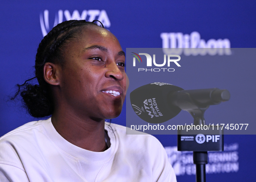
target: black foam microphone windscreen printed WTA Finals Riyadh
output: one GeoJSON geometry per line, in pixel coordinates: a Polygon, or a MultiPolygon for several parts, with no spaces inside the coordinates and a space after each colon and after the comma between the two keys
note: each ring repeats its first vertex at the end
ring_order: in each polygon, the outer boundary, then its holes
{"type": "Polygon", "coordinates": [[[162,123],[177,116],[181,109],[169,103],[169,95],[182,91],[168,83],[155,82],[136,88],[130,93],[134,112],[149,123],[162,123]]]}

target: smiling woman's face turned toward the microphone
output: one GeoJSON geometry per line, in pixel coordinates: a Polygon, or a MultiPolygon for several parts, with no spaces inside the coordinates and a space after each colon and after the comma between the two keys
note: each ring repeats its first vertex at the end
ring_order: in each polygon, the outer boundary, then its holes
{"type": "Polygon", "coordinates": [[[117,38],[104,28],[88,25],[63,52],[60,88],[68,110],[91,119],[119,116],[126,96],[126,72],[117,38]]]}

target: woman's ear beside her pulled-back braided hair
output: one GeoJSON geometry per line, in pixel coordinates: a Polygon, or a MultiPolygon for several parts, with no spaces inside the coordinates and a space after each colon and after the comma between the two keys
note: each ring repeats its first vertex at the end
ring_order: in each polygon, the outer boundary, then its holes
{"type": "Polygon", "coordinates": [[[61,67],[54,63],[45,63],[44,79],[50,85],[59,85],[61,67]]]}

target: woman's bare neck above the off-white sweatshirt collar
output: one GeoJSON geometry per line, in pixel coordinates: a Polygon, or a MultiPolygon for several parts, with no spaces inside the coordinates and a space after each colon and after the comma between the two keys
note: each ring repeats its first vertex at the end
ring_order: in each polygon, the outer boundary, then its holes
{"type": "Polygon", "coordinates": [[[107,148],[104,137],[104,119],[95,121],[90,118],[81,119],[72,113],[55,112],[52,124],[65,140],[88,151],[100,152],[107,148]]]}

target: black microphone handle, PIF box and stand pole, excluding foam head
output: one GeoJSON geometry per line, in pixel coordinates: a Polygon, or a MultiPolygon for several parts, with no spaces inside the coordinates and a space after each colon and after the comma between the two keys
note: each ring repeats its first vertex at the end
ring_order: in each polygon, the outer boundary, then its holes
{"type": "Polygon", "coordinates": [[[183,129],[178,130],[178,151],[193,151],[193,160],[196,165],[196,182],[206,182],[205,164],[208,163],[207,151],[223,151],[224,142],[222,130],[214,126],[207,126],[207,130],[202,129],[205,126],[204,112],[210,105],[220,104],[221,101],[229,100],[229,91],[217,88],[176,91],[172,93],[171,98],[173,105],[178,106],[181,110],[188,111],[194,118],[194,130],[192,126],[192,130],[189,130],[189,132],[183,129]],[[196,126],[201,126],[199,127],[201,130],[198,130],[196,126]],[[186,141],[185,138],[181,139],[182,135],[190,136],[193,139],[192,141],[186,141]],[[204,135],[207,137],[206,142],[204,135]],[[208,138],[213,138],[211,143],[208,138]]]}

